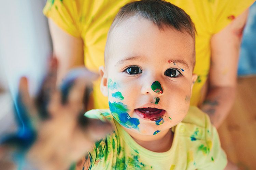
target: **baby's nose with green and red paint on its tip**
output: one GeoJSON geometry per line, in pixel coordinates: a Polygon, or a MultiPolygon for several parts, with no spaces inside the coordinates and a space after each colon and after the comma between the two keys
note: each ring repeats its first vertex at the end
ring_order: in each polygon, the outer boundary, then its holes
{"type": "Polygon", "coordinates": [[[157,96],[162,96],[163,94],[163,88],[161,86],[161,83],[159,81],[154,81],[152,83],[147,82],[141,89],[142,94],[152,94],[157,96]]]}

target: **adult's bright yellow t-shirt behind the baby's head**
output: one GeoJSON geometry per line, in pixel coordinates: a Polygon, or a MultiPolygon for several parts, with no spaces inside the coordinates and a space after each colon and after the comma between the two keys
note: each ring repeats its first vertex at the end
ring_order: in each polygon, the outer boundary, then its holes
{"type": "MultiPolygon", "coordinates": [[[[120,7],[131,0],[48,0],[43,13],[74,37],[84,41],[84,64],[98,72],[104,65],[104,47],[111,23],[120,7]]],[[[211,36],[246,10],[254,0],[167,0],[182,8],[195,24],[196,65],[198,79],[193,87],[191,105],[198,105],[201,89],[210,69],[211,36]]],[[[100,92],[100,80],[94,83],[94,108],[108,108],[100,92]]]]}

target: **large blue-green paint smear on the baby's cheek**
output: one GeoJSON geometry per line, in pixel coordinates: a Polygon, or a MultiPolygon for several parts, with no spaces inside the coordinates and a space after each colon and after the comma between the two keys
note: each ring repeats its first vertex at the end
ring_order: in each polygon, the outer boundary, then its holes
{"type": "Polygon", "coordinates": [[[140,124],[140,121],[137,118],[130,117],[130,115],[127,113],[129,111],[127,105],[121,102],[109,102],[109,109],[119,124],[125,128],[139,129],[138,125],[140,124]]]}

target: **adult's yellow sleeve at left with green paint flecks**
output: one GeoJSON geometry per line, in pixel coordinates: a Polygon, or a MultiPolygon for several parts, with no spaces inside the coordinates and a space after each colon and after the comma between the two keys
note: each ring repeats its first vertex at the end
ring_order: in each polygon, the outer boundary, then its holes
{"type": "Polygon", "coordinates": [[[81,0],[47,0],[43,13],[68,34],[80,37],[81,6],[81,0]]]}

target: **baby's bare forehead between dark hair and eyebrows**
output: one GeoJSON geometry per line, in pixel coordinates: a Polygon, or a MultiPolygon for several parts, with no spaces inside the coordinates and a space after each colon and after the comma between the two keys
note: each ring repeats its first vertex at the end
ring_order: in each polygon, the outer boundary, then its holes
{"type": "Polygon", "coordinates": [[[122,22],[111,31],[107,42],[105,59],[114,65],[136,59],[142,62],[154,58],[158,62],[192,60],[194,40],[187,33],[171,27],[159,29],[145,18],[130,17],[122,22]]]}

